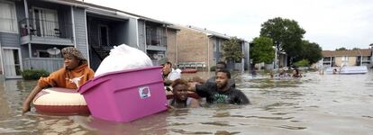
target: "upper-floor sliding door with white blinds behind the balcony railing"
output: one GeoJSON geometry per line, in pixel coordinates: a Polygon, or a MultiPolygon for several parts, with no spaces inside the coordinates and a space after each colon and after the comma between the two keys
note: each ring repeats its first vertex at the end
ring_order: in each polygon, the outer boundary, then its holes
{"type": "Polygon", "coordinates": [[[57,11],[33,7],[33,26],[38,36],[56,37],[59,33],[59,17],[57,11]]]}

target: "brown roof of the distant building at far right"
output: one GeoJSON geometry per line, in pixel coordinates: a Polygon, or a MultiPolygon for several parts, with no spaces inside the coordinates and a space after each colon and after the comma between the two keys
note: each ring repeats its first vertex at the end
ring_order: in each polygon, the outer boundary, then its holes
{"type": "Polygon", "coordinates": [[[323,57],[338,56],[370,56],[371,49],[354,49],[354,50],[323,50],[323,57]]]}

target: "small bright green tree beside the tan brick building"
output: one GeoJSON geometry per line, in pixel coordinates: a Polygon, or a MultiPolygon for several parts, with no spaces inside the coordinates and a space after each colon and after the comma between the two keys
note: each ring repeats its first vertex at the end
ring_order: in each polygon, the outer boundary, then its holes
{"type": "Polygon", "coordinates": [[[273,49],[273,40],[267,37],[254,38],[250,46],[250,58],[252,63],[270,63],[275,58],[275,49],[273,49]]]}

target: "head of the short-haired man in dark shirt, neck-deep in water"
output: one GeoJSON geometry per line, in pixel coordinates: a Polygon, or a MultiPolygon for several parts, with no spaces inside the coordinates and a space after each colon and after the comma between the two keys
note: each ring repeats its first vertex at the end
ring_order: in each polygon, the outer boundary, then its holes
{"type": "Polygon", "coordinates": [[[227,69],[217,71],[216,86],[219,90],[226,91],[229,89],[228,82],[231,79],[231,73],[227,69]]]}

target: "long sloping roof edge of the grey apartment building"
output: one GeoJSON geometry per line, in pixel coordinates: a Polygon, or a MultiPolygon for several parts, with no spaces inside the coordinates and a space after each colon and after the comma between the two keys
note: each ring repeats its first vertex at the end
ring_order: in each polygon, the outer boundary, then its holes
{"type": "Polygon", "coordinates": [[[129,15],[138,17],[140,20],[144,20],[144,21],[150,21],[150,22],[153,22],[153,23],[162,23],[162,24],[166,24],[166,25],[172,25],[172,23],[165,23],[165,22],[162,22],[162,21],[159,21],[159,20],[156,20],[156,19],[141,16],[139,14],[132,14],[132,13],[124,12],[122,10],[114,9],[114,8],[111,8],[111,7],[106,7],[106,6],[102,6],[102,5],[98,5],[98,4],[90,4],[90,3],[83,2],[83,1],[77,1],[77,0],[59,0],[59,1],[44,0],[44,1],[48,1],[48,2],[51,2],[51,3],[59,3],[59,4],[68,4],[68,5],[73,5],[73,6],[80,6],[80,7],[86,8],[86,9],[99,8],[99,9],[104,9],[104,10],[108,10],[108,11],[111,11],[111,12],[129,14],[129,15]]]}

